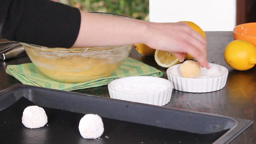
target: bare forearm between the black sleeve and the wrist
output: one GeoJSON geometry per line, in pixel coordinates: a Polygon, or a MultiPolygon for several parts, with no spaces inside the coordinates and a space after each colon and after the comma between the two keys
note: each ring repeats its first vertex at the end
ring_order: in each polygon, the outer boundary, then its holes
{"type": "Polygon", "coordinates": [[[147,28],[147,23],[143,20],[81,11],[81,25],[74,46],[118,46],[145,43],[147,28]]]}

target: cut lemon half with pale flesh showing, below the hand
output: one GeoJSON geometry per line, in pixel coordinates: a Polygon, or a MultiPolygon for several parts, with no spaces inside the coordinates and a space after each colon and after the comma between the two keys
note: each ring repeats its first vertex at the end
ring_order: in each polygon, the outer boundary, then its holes
{"type": "Polygon", "coordinates": [[[180,61],[173,53],[161,50],[155,51],[155,61],[159,66],[165,68],[169,68],[180,63],[180,61]]]}

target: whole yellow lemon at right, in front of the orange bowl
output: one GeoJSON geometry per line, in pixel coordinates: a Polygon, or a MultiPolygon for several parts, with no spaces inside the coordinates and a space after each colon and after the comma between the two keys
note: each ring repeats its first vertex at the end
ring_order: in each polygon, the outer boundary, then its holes
{"type": "Polygon", "coordinates": [[[226,46],[224,59],[233,69],[251,69],[256,64],[256,47],[245,40],[234,40],[226,46]]]}

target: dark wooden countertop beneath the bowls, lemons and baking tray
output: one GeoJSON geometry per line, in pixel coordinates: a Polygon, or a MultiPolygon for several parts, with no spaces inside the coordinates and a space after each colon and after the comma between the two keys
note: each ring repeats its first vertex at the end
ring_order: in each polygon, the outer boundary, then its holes
{"type": "MultiPolygon", "coordinates": [[[[228,67],[225,63],[223,53],[226,45],[233,40],[232,32],[206,32],[206,36],[208,61],[225,66],[229,70],[226,86],[219,91],[201,94],[174,90],[171,101],[165,107],[252,120],[254,122],[253,125],[234,139],[231,144],[256,143],[256,66],[247,71],[237,71],[228,67]]],[[[167,68],[158,66],[153,56],[142,56],[133,49],[130,57],[163,71],[163,78],[167,79],[167,68]]],[[[14,59],[0,61],[0,91],[20,83],[14,77],[6,74],[5,68],[7,65],[30,62],[25,52],[14,59]]],[[[109,97],[107,86],[76,90],[74,92],[109,97]]]]}

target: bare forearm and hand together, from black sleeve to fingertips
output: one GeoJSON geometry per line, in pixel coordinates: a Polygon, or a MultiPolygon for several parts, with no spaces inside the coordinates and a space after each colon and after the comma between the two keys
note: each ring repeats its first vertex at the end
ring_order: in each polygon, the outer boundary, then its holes
{"type": "Polygon", "coordinates": [[[206,59],[206,40],[184,22],[152,23],[81,11],[81,25],[74,47],[135,43],[172,52],[180,61],[188,53],[201,67],[210,68],[206,59]]]}

